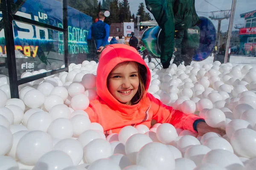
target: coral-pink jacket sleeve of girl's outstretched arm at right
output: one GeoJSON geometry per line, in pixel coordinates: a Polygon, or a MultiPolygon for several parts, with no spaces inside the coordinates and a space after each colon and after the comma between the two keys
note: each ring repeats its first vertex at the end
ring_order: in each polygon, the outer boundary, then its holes
{"type": "Polygon", "coordinates": [[[197,123],[198,119],[203,120],[203,118],[198,117],[194,114],[185,114],[181,111],[175,110],[170,106],[164,105],[159,99],[156,99],[152,94],[148,93],[148,97],[151,101],[151,108],[153,109],[152,119],[156,120],[158,123],[170,123],[175,128],[181,128],[184,130],[190,130],[197,133],[194,123],[197,123]]]}

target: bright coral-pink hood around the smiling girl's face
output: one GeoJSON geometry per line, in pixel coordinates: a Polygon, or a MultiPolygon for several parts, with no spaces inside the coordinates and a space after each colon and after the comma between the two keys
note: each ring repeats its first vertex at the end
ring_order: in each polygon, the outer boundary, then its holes
{"type": "Polygon", "coordinates": [[[148,91],[150,83],[150,71],[145,61],[142,59],[137,50],[125,44],[108,45],[103,51],[99,59],[97,68],[96,89],[98,96],[106,102],[111,108],[137,108],[140,102],[136,105],[125,105],[115,99],[108,91],[107,78],[112,69],[119,63],[125,61],[138,62],[146,67],[147,80],[145,83],[145,94],[148,91]]]}

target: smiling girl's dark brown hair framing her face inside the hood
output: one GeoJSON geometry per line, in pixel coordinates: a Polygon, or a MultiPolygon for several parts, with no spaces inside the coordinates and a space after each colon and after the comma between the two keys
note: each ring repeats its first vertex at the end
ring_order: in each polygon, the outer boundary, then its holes
{"type": "MultiPolygon", "coordinates": [[[[123,64],[128,64],[127,62],[122,62],[123,64]]],[[[138,77],[139,77],[139,87],[137,93],[134,95],[134,97],[131,99],[131,105],[136,105],[138,102],[140,102],[141,99],[144,98],[145,94],[145,84],[147,81],[147,69],[145,65],[142,65],[138,62],[135,62],[135,64],[138,66],[138,77]]],[[[108,77],[109,79],[109,77],[108,77]]],[[[108,79],[107,79],[107,86],[108,86],[108,79]]]]}

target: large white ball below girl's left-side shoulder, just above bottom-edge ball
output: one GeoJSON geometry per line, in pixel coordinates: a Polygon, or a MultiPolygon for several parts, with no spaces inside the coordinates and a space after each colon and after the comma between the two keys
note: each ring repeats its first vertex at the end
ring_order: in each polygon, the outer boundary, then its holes
{"type": "Polygon", "coordinates": [[[94,139],[84,147],[84,159],[91,164],[102,158],[113,155],[110,143],[104,139],[94,139]]]}

